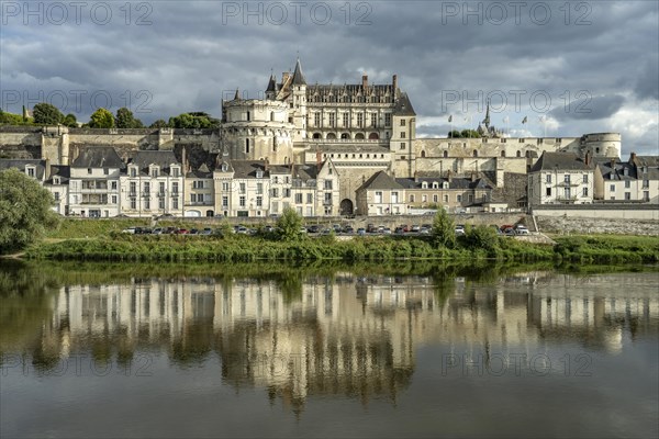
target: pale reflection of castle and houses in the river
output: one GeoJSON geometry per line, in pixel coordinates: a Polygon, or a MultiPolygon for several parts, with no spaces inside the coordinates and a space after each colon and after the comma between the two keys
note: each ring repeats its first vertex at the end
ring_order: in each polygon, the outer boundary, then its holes
{"type": "Polygon", "coordinates": [[[312,394],[395,398],[415,350],[533,351],[552,340],[615,353],[655,337],[657,273],[529,272],[479,284],[422,277],[281,280],[134,278],[68,285],[41,346],[59,358],[159,349],[180,364],[219,358],[222,379],[302,405],[312,394]],[[621,289],[634,278],[634,289],[621,289]]]}

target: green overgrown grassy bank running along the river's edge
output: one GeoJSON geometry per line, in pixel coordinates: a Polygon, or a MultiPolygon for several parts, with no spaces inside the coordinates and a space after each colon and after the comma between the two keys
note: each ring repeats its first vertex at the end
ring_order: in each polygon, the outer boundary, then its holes
{"type": "Polygon", "coordinates": [[[94,237],[55,238],[34,245],[25,258],[89,261],[394,261],[394,260],[499,260],[566,261],[579,263],[656,263],[659,237],[561,236],[556,246],[510,237],[488,243],[461,238],[455,248],[437,247],[429,236],[366,236],[338,240],[333,236],[281,241],[271,237],[228,235],[133,236],[110,233],[94,237]]]}

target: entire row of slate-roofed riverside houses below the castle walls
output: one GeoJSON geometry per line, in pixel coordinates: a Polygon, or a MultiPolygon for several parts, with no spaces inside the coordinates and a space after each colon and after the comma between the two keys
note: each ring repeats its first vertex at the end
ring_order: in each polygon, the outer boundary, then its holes
{"type": "MultiPolygon", "coordinates": [[[[315,165],[228,160],[221,154],[188,159],[186,150],[139,150],[122,159],[111,146],[85,146],[70,166],[0,159],[40,181],[63,215],[268,217],[291,207],[300,215],[345,214],[340,176],[331,158],[315,165]]],[[[527,177],[527,204],[659,204],[659,157],[581,159],[544,153],[527,177]]],[[[357,215],[396,215],[444,207],[449,212],[505,212],[484,173],[425,172],[395,178],[378,171],[356,189],[357,215]]]]}

